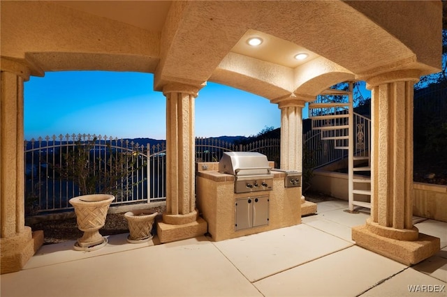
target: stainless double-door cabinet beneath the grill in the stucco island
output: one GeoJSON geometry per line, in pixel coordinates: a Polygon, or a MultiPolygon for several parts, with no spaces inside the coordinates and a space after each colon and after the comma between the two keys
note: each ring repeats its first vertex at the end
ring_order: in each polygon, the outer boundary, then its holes
{"type": "Polygon", "coordinates": [[[267,225],[269,196],[247,197],[235,201],[235,231],[267,225]]]}

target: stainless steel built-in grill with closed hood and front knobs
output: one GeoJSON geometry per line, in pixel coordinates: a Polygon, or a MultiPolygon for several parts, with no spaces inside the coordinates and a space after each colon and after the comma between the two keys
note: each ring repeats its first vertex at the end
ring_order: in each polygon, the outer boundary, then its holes
{"type": "Polygon", "coordinates": [[[235,193],[272,190],[270,169],[267,156],[254,152],[223,153],[219,162],[219,172],[235,176],[235,193]]]}

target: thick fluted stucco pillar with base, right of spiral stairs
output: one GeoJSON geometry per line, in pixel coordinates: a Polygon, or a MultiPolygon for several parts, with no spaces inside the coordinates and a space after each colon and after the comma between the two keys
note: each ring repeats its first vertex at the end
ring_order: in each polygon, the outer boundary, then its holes
{"type": "Polygon", "coordinates": [[[413,226],[413,85],[417,70],[367,79],[372,91],[371,217],[354,227],[356,243],[404,264],[439,250],[439,238],[413,226]]]}

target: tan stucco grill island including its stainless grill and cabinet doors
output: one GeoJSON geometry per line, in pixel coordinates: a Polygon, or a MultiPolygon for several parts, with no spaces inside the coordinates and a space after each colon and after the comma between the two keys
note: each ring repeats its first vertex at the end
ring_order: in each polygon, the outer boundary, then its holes
{"type": "Polygon", "coordinates": [[[273,167],[254,152],[223,153],[220,162],[197,164],[198,209],[214,241],[300,224],[301,176],[273,167]]]}

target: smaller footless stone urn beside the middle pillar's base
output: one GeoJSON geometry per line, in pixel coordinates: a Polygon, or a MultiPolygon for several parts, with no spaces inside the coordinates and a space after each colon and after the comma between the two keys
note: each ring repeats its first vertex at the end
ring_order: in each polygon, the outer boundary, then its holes
{"type": "Polygon", "coordinates": [[[130,234],[127,237],[129,243],[145,243],[152,239],[152,225],[156,215],[156,211],[151,210],[137,210],[128,211],[124,213],[124,218],[126,218],[129,224],[130,234]]]}

